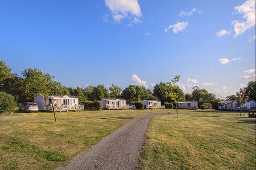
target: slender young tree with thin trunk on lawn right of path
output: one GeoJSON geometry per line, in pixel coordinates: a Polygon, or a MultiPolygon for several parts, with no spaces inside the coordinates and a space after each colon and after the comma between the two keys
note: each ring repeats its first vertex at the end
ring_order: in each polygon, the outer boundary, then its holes
{"type": "Polygon", "coordinates": [[[167,82],[169,90],[165,92],[165,95],[164,95],[164,97],[166,97],[167,99],[175,103],[176,114],[177,114],[177,101],[179,98],[179,94],[177,93],[179,91],[177,90],[177,88],[179,87],[176,85],[176,83],[179,82],[179,80],[180,80],[180,75],[179,76],[176,75],[174,79],[171,79],[170,82],[167,82]]]}

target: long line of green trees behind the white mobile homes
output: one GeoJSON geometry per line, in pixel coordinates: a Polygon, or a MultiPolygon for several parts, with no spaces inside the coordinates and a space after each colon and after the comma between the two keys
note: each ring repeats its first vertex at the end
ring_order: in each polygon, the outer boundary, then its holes
{"type": "MultiPolygon", "coordinates": [[[[255,100],[255,81],[249,82],[246,87],[249,88],[247,89],[249,98],[255,100]]],[[[36,94],[44,96],[73,95],[79,97],[80,104],[84,104],[85,101],[99,101],[101,98],[125,98],[127,103],[143,99],[160,100],[162,104],[164,102],[172,103],[173,101],[166,97],[166,92],[175,92],[179,96],[178,101],[197,101],[199,106],[203,103],[211,103],[214,109],[217,109],[218,101],[222,101],[205,89],[194,87],[192,94],[184,94],[177,85],[164,82],[156,84],[153,90],[138,85],[129,85],[122,90],[114,84],[108,89],[104,85],[68,88],[61,85],[61,82],[53,81],[53,76],[43,73],[37,68],[24,69],[22,77],[19,77],[18,74],[11,73],[11,68],[4,61],[0,61],[0,92],[11,94],[18,104],[34,101],[36,94]]]]}

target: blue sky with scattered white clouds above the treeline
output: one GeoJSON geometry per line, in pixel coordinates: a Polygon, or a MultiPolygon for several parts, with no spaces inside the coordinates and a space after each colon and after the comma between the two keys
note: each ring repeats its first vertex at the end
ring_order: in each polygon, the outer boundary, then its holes
{"type": "Polygon", "coordinates": [[[185,93],[223,98],[255,80],[255,0],[1,1],[0,20],[0,60],[65,86],[152,88],[180,74],[185,93]]]}

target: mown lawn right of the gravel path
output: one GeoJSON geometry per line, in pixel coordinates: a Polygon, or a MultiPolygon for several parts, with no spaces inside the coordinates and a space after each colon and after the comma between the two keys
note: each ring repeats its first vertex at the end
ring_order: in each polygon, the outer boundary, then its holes
{"type": "Polygon", "coordinates": [[[255,169],[255,156],[255,119],[246,113],[179,110],[151,119],[139,168],[255,169]]]}

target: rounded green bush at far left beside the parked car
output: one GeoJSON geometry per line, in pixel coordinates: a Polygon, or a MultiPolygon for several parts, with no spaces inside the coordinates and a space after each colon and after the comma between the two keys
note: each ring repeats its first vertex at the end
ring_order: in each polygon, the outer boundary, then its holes
{"type": "Polygon", "coordinates": [[[16,102],[14,101],[14,96],[5,92],[0,92],[0,113],[14,111],[15,107],[16,102]]]}

